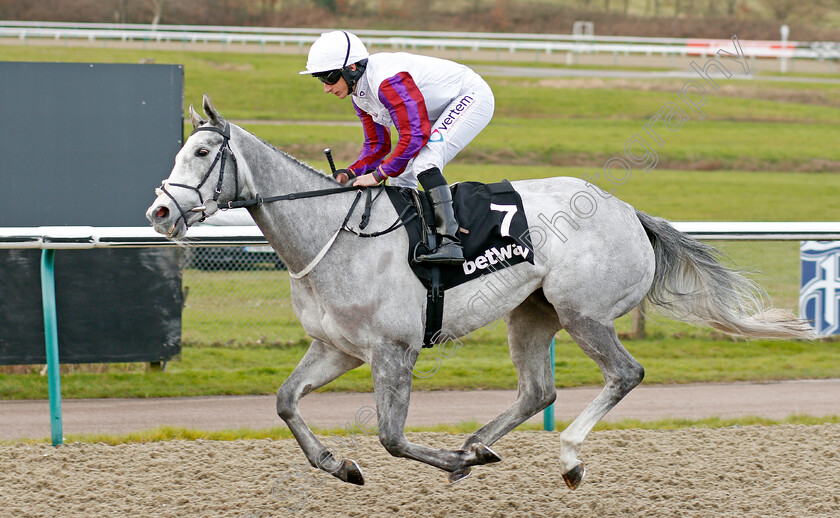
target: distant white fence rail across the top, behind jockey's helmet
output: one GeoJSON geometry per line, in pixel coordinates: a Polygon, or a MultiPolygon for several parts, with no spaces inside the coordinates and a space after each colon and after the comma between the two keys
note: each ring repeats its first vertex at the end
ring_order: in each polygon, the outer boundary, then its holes
{"type": "MultiPolygon", "coordinates": [[[[225,27],[193,25],[139,25],[103,23],[0,21],[0,38],[144,41],[180,43],[221,43],[259,45],[297,45],[303,48],[328,29],[280,27],[225,27]]],[[[551,54],[613,53],[665,56],[713,56],[729,48],[728,40],[698,38],[643,38],[631,36],[587,36],[571,34],[455,33],[419,31],[354,31],[372,46],[399,49],[431,48],[473,51],[531,51],[551,54]]],[[[741,40],[744,55],[750,58],[840,59],[838,42],[797,42],[741,40]]]]}

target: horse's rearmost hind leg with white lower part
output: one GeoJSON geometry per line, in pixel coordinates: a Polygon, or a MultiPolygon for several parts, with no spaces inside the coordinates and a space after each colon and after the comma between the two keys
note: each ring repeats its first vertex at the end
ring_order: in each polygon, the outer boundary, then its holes
{"type": "Polygon", "coordinates": [[[604,324],[576,313],[561,313],[563,327],[592,358],[604,376],[604,389],[560,434],[560,464],[563,480],[576,489],[583,480],[583,463],[578,460],[583,440],[592,428],[636,385],[645,370],[621,345],[612,323],[604,324]]]}

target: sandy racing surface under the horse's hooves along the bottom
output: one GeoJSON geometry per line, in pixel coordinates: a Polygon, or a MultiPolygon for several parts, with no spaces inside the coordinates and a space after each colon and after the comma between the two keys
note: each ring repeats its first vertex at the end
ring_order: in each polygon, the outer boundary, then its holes
{"type": "MultiPolygon", "coordinates": [[[[494,446],[501,463],[454,486],[390,457],[375,436],[323,440],[362,466],[365,486],[298,470],[292,440],[3,445],[0,515],[840,516],[840,424],[593,432],[574,492],[558,470],[557,432],[509,434],[494,446]]],[[[462,437],[409,440],[453,448],[462,437]]]]}

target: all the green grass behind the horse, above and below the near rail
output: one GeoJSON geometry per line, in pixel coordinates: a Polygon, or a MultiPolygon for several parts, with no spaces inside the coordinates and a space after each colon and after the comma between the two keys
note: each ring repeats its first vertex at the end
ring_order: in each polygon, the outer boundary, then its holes
{"type": "MultiPolygon", "coordinates": [[[[347,102],[324,95],[316,81],[297,74],[303,54],[0,46],[0,56],[118,63],[151,57],[159,64],[184,65],[187,106],[200,103],[207,92],[234,121],[357,121],[347,102]]],[[[654,147],[658,166],[649,173],[633,170],[626,183],[614,186],[618,197],[671,220],[840,220],[838,85],[795,76],[785,82],[725,82],[725,95],[709,92],[701,121],[677,98],[681,81],[604,80],[594,86],[514,77],[488,81],[496,95],[496,117],[447,167],[450,181],[601,174],[596,183],[611,188],[603,178],[604,162],[621,155],[636,133],[652,143],[643,125],[665,103],[676,102],[691,120],[673,132],[657,126],[665,141],[654,147]]],[[[247,128],[322,170],[327,169],[324,147],[333,149],[339,164],[353,160],[360,147],[361,129],[355,126],[255,123],[247,128]]],[[[734,264],[761,272],[759,281],[777,305],[795,307],[797,243],[719,245],[734,264]]],[[[69,372],[62,376],[64,396],[273,393],[308,343],[288,301],[287,274],[186,270],[184,284],[190,296],[180,361],[170,362],[164,373],[147,374],[139,364],[114,365],[97,374],[69,372]],[[263,295],[253,295],[257,288],[263,295]],[[247,320],[232,308],[245,312],[247,320]]],[[[630,330],[627,317],[618,329],[630,330]]],[[[647,383],[840,376],[837,342],[735,342],[660,318],[648,321],[648,332],[647,339],[625,341],[645,365],[647,383]]],[[[435,358],[435,350],[424,351],[418,368],[431,369],[435,358]]],[[[595,364],[564,334],[558,337],[555,368],[558,386],[601,383],[595,364]]],[[[415,380],[415,388],[426,390],[515,386],[503,325],[475,333],[434,376],[415,380]]],[[[362,367],[325,390],[371,388],[369,368],[362,367]]],[[[0,374],[0,398],[46,397],[46,377],[0,374]]],[[[179,433],[187,432],[159,435],[179,433]]]]}

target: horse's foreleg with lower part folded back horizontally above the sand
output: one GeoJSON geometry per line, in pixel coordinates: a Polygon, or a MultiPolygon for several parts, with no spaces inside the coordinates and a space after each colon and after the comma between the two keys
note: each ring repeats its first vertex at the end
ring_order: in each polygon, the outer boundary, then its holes
{"type": "Polygon", "coordinates": [[[405,419],[411,396],[413,361],[406,359],[405,350],[380,347],[371,361],[371,376],[378,415],[379,441],[394,457],[407,457],[449,472],[467,466],[498,462],[492,450],[474,444],[468,450],[443,450],[421,446],[405,437],[405,419]]]}

